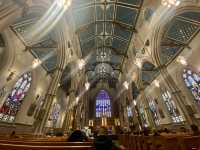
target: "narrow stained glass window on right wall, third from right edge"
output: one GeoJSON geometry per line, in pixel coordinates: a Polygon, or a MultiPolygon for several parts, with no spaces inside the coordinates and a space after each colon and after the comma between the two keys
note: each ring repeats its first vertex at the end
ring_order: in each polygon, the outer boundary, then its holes
{"type": "Polygon", "coordinates": [[[158,117],[158,111],[157,111],[157,108],[156,108],[156,104],[154,102],[154,100],[151,100],[149,102],[149,109],[150,109],[150,112],[153,116],[153,120],[155,122],[156,125],[159,125],[160,124],[160,119],[158,117]]]}

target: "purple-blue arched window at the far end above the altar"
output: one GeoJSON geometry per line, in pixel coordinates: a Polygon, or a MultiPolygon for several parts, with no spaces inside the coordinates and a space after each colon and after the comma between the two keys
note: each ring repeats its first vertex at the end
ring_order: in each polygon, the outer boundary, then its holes
{"type": "Polygon", "coordinates": [[[111,117],[110,96],[105,90],[101,90],[96,97],[96,117],[111,117]]]}

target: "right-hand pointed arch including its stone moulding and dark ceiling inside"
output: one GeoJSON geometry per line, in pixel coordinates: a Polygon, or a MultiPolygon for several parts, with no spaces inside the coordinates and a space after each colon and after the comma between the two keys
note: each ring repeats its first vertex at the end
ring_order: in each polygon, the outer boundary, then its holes
{"type": "Polygon", "coordinates": [[[159,66],[170,64],[200,31],[199,7],[188,6],[176,10],[155,29],[152,41],[154,56],[159,66]]]}

